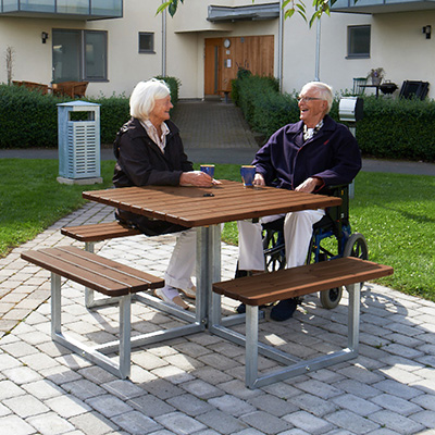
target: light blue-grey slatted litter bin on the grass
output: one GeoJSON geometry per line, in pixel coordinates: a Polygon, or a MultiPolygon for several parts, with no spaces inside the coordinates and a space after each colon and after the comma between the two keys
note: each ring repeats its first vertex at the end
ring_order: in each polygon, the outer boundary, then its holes
{"type": "Polygon", "coordinates": [[[58,104],[59,177],[63,184],[102,183],[100,104],[71,101],[58,104]]]}

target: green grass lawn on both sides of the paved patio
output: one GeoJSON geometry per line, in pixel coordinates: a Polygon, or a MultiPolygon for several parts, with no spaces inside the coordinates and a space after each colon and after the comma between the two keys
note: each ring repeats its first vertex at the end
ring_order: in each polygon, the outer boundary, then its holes
{"type": "MultiPolygon", "coordinates": [[[[57,182],[57,160],[0,160],[0,257],[85,201],[83,190],[111,185],[113,161],[101,162],[103,185],[67,186],[57,182]]],[[[196,166],[198,167],[198,166],[196,166]]],[[[216,178],[239,181],[239,166],[216,165],[216,178]]],[[[364,235],[369,259],[393,265],[395,274],[378,282],[435,301],[435,177],[360,173],[350,201],[353,232],[364,235]]],[[[223,239],[237,244],[235,223],[223,239]]]]}

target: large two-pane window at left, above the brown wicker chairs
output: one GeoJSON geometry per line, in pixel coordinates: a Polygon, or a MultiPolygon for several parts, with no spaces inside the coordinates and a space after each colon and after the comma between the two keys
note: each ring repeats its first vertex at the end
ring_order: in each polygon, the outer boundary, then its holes
{"type": "Polygon", "coordinates": [[[108,34],[53,29],[53,82],[108,79],[108,34]]]}

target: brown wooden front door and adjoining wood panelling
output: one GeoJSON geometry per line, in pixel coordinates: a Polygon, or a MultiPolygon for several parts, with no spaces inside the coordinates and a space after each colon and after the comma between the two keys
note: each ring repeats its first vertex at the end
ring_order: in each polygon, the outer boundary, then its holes
{"type": "Polygon", "coordinates": [[[273,35],[231,38],[207,38],[204,60],[204,95],[231,91],[231,80],[239,67],[252,74],[273,76],[273,35]],[[224,47],[224,40],[229,47],[224,47]]]}

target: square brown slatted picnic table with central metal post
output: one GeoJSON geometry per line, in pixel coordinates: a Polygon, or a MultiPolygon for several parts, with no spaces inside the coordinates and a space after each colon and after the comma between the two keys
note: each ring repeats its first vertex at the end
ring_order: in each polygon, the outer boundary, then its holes
{"type": "MultiPolygon", "coordinates": [[[[338,206],[341,199],[303,194],[274,187],[244,187],[241,183],[222,181],[211,188],[181,186],[124,187],[84,191],[85,199],[133,213],[197,228],[197,303],[198,325],[186,332],[204,330],[209,320],[220,322],[220,297],[212,283],[221,281],[221,224],[307,209],[338,206]]],[[[179,313],[184,318],[191,313],[179,313]]],[[[237,315],[223,322],[234,322],[237,315]]],[[[163,336],[162,336],[163,339],[163,336]]]]}

